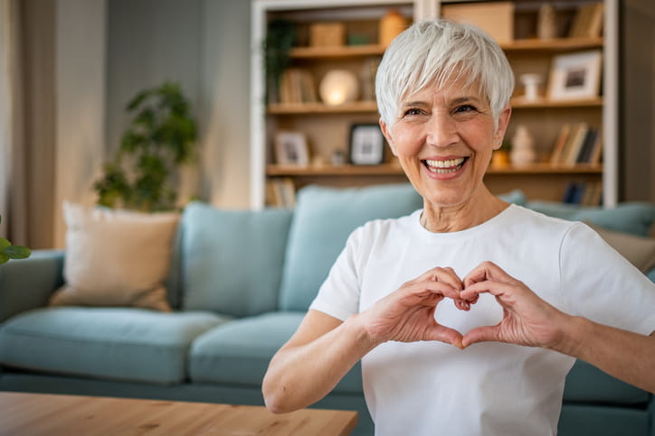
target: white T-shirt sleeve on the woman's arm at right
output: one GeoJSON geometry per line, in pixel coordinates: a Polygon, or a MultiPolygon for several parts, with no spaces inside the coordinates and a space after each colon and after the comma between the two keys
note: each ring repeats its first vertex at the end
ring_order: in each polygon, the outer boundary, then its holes
{"type": "Polygon", "coordinates": [[[655,284],[593,229],[570,227],[559,266],[569,313],[644,335],[655,331],[655,284]]]}

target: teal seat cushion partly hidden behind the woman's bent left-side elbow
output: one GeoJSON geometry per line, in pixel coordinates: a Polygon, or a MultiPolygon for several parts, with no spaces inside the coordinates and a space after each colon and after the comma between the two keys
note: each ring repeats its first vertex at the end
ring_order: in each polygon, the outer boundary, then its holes
{"type": "MultiPolygon", "coordinates": [[[[217,326],[195,339],[189,353],[193,383],[261,386],[275,352],[298,329],[302,312],[271,312],[217,326]]],[[[361,393],[361,368],[354,367],[335,392],[361,393]]]]}

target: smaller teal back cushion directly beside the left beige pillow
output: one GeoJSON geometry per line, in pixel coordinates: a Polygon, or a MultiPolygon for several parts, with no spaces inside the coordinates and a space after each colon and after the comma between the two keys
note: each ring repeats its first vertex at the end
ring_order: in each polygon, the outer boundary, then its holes
{"type": "Polygon", "coordinates": [[[290,220],[286,209],[189,204],[182,218],[183,309],[237,317],[275,310],[290,220]]]}

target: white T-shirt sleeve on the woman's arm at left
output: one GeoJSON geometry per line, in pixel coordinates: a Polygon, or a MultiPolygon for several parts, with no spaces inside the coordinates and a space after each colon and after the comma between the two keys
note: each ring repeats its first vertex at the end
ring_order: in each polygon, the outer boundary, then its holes
{"type": "Polygon", "coordinates": [[[328,278],[318,290],[309,309],[322,311],[338,320],[346,320],[359,311],[360,281],[357,255],[360,250],[362,227],[346,241],[346,247],[332,265],[328,278]]]}

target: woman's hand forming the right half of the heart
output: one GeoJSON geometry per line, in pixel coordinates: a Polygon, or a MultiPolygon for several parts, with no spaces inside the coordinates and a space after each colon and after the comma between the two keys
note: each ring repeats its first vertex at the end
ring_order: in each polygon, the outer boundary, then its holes
{"type": "Polygon", "coordinates": [[[540,299],[535,292],[491,262],[479,264],[464,280],[460,298],[474,300],[489,292],[503,308],[503,319],[495,326],[471,329],[462,345],[482,341],[508,342],[517,345],[555,348],[562,339],[559,326],[569,317],[540,299]]]}

